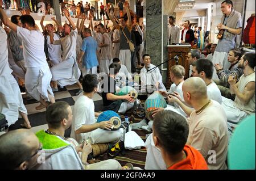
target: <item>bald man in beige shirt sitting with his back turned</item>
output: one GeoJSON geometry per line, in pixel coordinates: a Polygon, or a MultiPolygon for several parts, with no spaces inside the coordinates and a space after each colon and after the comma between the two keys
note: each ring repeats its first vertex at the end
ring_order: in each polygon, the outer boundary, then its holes
{"type": "MultiPolygon", "coordinates": [[[[209,169],[227,169],[225,161],[228,151],[228,127],[223,108],[215,100],[208,98],[207,86],[199,77],[185,80],[182,90],[185,102],[195,109],[187,119],[187,145],[200,151],[209,169]]],[[[145,169],[166,169],[152,135],[146,140],[146,148],[145,169]]]]}

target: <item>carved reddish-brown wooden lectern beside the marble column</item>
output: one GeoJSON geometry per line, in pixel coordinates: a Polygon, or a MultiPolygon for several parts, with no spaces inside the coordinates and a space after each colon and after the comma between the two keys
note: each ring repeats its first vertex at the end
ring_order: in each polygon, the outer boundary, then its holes
{"type": "MultiPolygon", "coordinates": [[[[191,50],[190,44],[182,44],[182,45],[168,45],[168,58],[171,59],[174,56],[178,56],[179,60],[177,61],[178,65],[182,65],[185,68],[185,77],[184,79],[189,77],[189,65],[187,61],[188,52],[191,50]],[[180,55],[180,56],[179,56],[180,55]],[[181,57],[182,56],[182,57],[181,57]]],[[[167,83],[166,86],[171,86],[171,78],[170,78],[170,69],[172,66],[176,65],[175,60],[170,60],[167,64],[167,83]]]]}

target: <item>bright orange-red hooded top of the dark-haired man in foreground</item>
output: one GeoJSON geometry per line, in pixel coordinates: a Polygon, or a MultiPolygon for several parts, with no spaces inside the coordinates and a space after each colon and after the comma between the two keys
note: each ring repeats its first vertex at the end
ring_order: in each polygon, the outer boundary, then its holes
{"type": "Polygon", "coordinates": [[[184,146],[184,151],[187,157],[167,170],[208,170],[207,162],[199,151],[188,145],[184,146]]]}

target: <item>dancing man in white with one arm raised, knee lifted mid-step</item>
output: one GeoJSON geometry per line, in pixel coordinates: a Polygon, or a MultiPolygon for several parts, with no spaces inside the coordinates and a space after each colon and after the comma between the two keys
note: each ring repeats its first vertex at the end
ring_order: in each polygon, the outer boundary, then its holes
{"type": "Polygon", "coordinates": [[[77,28],[72,19],[69,17],[67,9],[64,9],[64,13],[69,23],[71,24],[71,26],[69,24],[64,24],[63,26],[65,37],[61,38],[60,40],[53,40],[53,32],[50,32],[51,44],[61,44],[63,47],[63,61],[51,68],[53,91],[58,91],[57,85],[63,87],[67,85],[73,85],[75,83],[77,83],[80,89],[82,89],[82,86],[79,82],[81,71],[79,70],[76,62],[77,28]]]}

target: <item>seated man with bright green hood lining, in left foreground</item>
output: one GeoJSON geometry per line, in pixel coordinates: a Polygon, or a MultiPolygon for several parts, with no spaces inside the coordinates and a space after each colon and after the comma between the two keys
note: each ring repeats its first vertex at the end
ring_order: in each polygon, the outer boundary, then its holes
{"type": "Polygon", "coordinates": [[[37,165],[35,169],[51,170],[82,170],[82,169],[121,169],[121,165],[113,160],[87,163],[88,155],[92,152],[92,146],[85,142],[79,145],[75,140],[65,140],[64,133],[72,124],[72,109],[67,102],[56,102],[46,110],[47,130],[36,133],[39,141],[43,144],[45,163],[37,165]],[[79,153],[81,151],[81,158],[79,153]]]}

